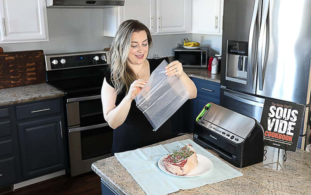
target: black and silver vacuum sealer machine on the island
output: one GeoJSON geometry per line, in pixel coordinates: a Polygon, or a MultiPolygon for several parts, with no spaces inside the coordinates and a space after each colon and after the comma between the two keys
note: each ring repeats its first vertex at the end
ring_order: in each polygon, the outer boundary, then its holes
{"type": "Polygon", "coordinates": [[[263,161],[263,128],[248,116],[207,103],[194,122],[193,141],[242,168],[263,161]]]}

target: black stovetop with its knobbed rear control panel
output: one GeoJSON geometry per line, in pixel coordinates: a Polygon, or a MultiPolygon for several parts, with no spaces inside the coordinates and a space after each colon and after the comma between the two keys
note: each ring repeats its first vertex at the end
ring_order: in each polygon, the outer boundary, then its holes
{"type": "Polygon", "coordinates": [[[100,95],[103,84],[101,70],[108,67],[107,51],[45,55],[47,83],[79,98],[100,95]]]}

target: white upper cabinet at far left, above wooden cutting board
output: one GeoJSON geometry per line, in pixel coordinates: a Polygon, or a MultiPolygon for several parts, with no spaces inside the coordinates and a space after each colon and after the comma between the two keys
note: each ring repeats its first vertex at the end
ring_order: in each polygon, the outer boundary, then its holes
{"type": "Polygon", "coordinates": [[[0,0],[0,43],[48,41],[45,0],[0,0]]]}

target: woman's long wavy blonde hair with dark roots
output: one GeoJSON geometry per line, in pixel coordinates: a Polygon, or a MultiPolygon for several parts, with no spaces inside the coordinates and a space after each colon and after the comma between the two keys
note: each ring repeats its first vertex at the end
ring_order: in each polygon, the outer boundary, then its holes
{"type": "Polygon", "coordinates": [[[114,39],[112,40],[109,59],[111,70],[111,82],[117,93],[121,93],[126,86],[126,93],[130,85],[136,79],[133,70],[127,66],[128,54],[130,52],[131,38],[133,32],[146,31],[148,39],[148,48],[152,47],[152,38],[149,29],[138,20],[125,20],[118,28],[114,39]]]}

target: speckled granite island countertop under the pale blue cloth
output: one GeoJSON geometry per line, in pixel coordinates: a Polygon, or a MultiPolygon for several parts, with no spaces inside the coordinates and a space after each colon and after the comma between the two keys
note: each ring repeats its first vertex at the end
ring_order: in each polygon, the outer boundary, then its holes
{"type": "MultiPolygon", "coordinates": [[[[193,139],[193,135],[186,134],[151,146],[188,138],[193,139]]],[[[283,150],[278,155],[276,148],[265,149],[267,154],[262,163],[245,168],[229,164],[242,172],[242,177],[172,194],[310,194],[311,153],[299,149],[296,153],[287,152],[287,161],[283,162],[283,150]]],[[[217,156],[214,151],[208,151],[217,156]]],[[[94,162],[92,170],[119,194],[145,194],[115,156],[94,162]]]]}

